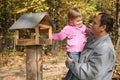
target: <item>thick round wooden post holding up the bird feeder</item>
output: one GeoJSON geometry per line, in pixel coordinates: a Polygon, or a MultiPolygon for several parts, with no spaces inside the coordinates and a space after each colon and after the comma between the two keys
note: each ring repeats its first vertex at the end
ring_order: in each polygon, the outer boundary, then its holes
{"type": "Polygon", "coordinates": [[[26,79],[43,80],[42,76],[42,46],[26,47],[26,79]]]}

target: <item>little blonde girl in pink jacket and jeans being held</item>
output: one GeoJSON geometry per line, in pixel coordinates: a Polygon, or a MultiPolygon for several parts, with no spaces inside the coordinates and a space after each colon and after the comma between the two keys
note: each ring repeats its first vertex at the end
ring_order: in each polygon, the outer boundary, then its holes
{"type": "MultiPolygon", "coordinates": [[[[70,9],[68,12],[68,24],[61,30],[61,32],[53,34],[53,40],[67,39],[66,51],[68,57],[79,61],[80,53],[86,43],[86,35],[90,34],[90,30],[82,23],[82,14],[78,8],[70,9]]],[[[74,76],[69,70],[66,79],[70,80],[74,76]]]]}

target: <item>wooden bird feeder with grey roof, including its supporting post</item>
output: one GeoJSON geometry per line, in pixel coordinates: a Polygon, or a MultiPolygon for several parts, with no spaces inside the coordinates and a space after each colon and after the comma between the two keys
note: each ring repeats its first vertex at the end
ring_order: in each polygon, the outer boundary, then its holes
{"type": "Polygon", "coordinates": [[[54,26],[47,12],[22,15],[11,27],[16,46],[26,46],[26,79],[42,80],[42,46],[52,43],[54,26]],[[22,35],[25,31],[27,35],[22,35]]]}

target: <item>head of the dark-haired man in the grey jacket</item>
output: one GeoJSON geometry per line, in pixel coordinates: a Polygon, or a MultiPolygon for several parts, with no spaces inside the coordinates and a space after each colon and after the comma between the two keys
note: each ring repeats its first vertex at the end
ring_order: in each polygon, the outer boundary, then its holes
{"type": "Polygon", "coordinates": [[[111,15],[106,13],[99,13],[91,23],[91,31],[95,37],[106,35],[112,30],[114,21],[111,15]]]}

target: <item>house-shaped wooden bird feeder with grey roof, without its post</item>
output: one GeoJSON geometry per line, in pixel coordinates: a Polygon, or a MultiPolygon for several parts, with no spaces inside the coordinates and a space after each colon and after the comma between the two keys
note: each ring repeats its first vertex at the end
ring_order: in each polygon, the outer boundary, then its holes
{"type": "Polygon", "coordinates": [[[16,45],[42,45],[52,43],[53,24],[47,12],[22,15],[10,29],[15,30],[16,45]],[[28,37],[21,37],[20,30],[26,30],[28,37]]]}

